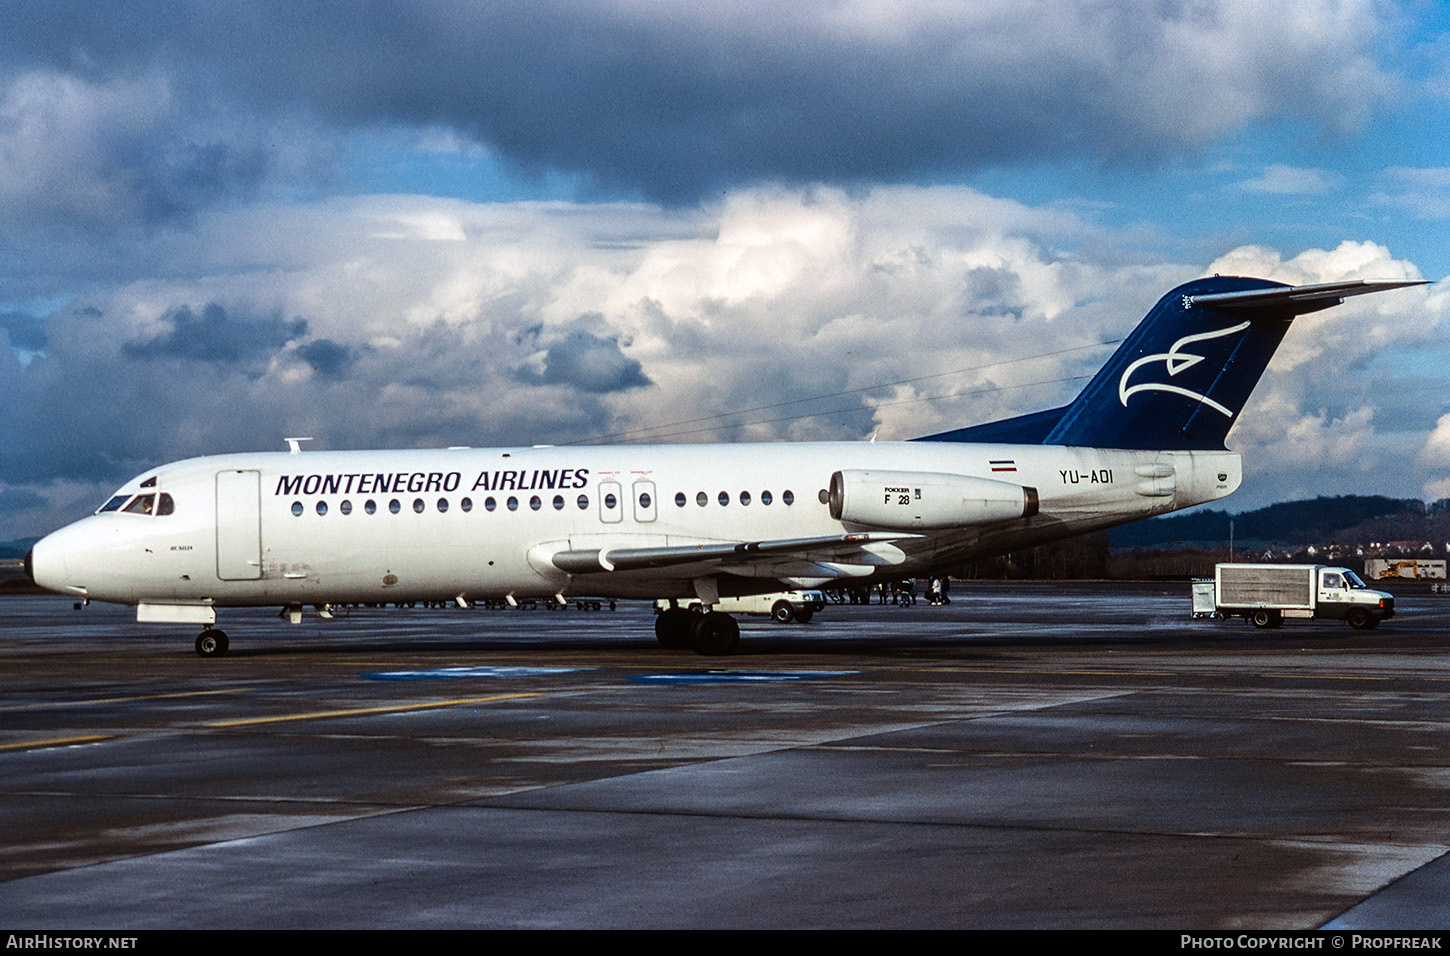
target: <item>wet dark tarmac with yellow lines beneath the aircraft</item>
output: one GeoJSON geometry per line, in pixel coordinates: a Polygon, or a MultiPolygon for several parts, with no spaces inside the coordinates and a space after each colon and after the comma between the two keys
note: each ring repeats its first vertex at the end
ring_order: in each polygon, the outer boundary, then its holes
{"type": "Polygon", "coordinates": [[[950,606],[223,611],[0,599],[0,924],[1450,926],[1450,595],[1375,631],[1186,583],[950,606]]]}

